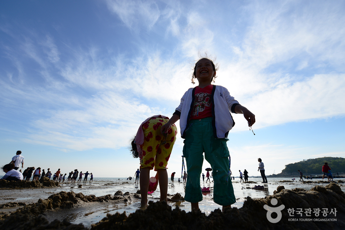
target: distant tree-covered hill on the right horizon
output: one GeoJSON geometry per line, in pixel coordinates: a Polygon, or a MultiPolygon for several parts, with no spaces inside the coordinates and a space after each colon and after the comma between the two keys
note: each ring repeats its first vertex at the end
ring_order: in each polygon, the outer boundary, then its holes
{"type": "Polygon", "coordinates": [[[301,162],[287,164],[281,173],[274,176],[299,175],[297,170],[306,174],[321,174],[322,165],[328,163],[333,175],[336,172],[345,172],[345,158],[342,157],[322,157],[315,159],[303,160],[301,162]]]}

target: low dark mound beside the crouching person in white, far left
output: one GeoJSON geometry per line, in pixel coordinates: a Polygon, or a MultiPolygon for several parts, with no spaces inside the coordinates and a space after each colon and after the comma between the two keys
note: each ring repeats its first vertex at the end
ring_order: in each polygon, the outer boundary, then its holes
{"type": "Polygon", "coordinates": [[[59,182],[54,182],[48,177],[43,177],[39,181],[7,181],[0,180],[0,188],[11,189],[29,189],[29,188],[44,188],[44,187],[59,187],[59,182]]]}

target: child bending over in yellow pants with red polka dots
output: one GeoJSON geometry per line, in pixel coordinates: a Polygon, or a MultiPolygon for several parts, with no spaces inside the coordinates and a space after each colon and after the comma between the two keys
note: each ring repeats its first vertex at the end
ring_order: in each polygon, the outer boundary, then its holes
{"type": "Polygon", "coordinates": [[[167,124],[168,117],[156,115],[141,123],[137,135],[132,140],[131,152],[133,157],[140,159],[140,194],[141,207],[146,207],[150,170],[154,168],[158,173],[161,192],[160,201],[167,201],[168,173],[167,164],[176,140],[177,128],[169,126],[163,135],[161,127],[167,124]]]}

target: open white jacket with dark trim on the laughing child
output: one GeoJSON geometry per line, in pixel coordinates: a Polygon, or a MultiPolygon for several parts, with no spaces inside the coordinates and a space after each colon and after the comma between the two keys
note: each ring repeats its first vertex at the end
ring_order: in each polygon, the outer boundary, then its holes
{"type": "MultiPolygon", "coordinates": [[[[180,117],[181,137],[185,137],[185,130],[189,124],[189,118],[194,104],[195,88],[190,88],[183,95],[180,105],[174,114],[180,117]]],[[[228,137],[229,131],[234,127],[235,122],[230,114],[235,113],[235,106],[239,104],[229,91],[222,86],[213,85],[212,95],[212,127],[215,138],[228,137]]]]}

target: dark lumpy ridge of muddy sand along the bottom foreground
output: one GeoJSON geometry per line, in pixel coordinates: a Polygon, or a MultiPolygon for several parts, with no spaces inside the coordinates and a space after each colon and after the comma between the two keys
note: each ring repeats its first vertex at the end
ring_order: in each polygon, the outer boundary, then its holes
{"type": "MultiPolygon", "coordinates": [[[[125,194],[124,194],[125,195],[125,194]]],[[[138,194],[136,194],[138,196],[138,194]]],[[[79,202],[101,202],[106,200],[124,199],[125,196],[104,197],[84,196],[73,192],[60,192],[45,200],[39,199],[37,203],[19,208],[10,215],[2,216],[0,219],[0,229],[23,229],[23,230],[86,230],[82,225],[75,225],[69,221],[55,220],[51,223],[44,217],[47,209],[73,208],[79,202]]],[[[274,213],[275,214],[275,213],[274,213]]],[[[272,214],[273,218],[276,218],[272,214]]],[[[206,216],[200,211],[185,212],[178,207],[172,210],[166,202],[149,202],[145,210],[138,209],[128,217],[125,213],[115,213],[107,216],[97,224],[91,226],[92,230],[118,229],[118,230],[209,230],[209,229],[345,229],[345,194],[341,188],[330,183],[327,186],[315,186],[309,191],[304,189],[286,190],[283,186],[278,186],[275,194],[260,199],[246,198],[243,207],[228,208],[224,212],[219,209],[206,216]],[[273,205],[271,200],[277,199],[277,204],[273,205]],[[281,211],[281,220],[273,224],[267,219],[267,210],[264,205],[278,207],[284,205],[281,211]],[[296,214],[298,208],[302,208],[301,215],[296,214]],[[305,213],[305,209],[311,208],[311,216],[305,213]],[[314,209],[321,211],[327,208],[327,216],[319,212],[318,216],[313,213],[314,209]],[[294,216],[290,216],[288,209],[294,209],[294,216]],[[331,209],[336,209],[336,214],[329,213],[331,209]],[[296,221],[296,219],[302,219],[296,221]],[[306,221],[308,219],[309,221],[306,221]],[[322,221],[320,221],[322,219],[322,221]],[[311,220],[311,221],[310,221],[311,220]],[[327,220],[327,221],[325,221],[327,220]]]]}

